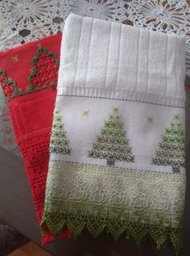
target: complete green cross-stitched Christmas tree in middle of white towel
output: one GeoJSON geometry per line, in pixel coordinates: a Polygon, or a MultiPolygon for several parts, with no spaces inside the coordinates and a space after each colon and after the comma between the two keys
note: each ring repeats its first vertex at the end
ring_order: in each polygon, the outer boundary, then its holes
{"type": "Polygon", "coordinates": [[[97,141],[93,143],[89,157],[106,159],[107,165],[114,166],[116,160],[134,162],[134,155],[131,151],[121,115],[119,115],[118,108],[114,107],[108,120],[105,120],[97,141]]]}

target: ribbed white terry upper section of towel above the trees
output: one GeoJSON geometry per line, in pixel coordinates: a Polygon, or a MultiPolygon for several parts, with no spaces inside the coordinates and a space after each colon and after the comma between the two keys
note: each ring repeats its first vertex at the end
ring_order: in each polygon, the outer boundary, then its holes
{"type": "Polygon", "coordinates": [[[184,36],[69,15],[58,94],[184,107],[184,44],[184,36]]]}

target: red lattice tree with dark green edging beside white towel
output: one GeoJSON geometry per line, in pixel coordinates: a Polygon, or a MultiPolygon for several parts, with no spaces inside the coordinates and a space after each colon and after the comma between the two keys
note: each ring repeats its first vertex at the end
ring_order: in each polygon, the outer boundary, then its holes
{"type": "Polygon", "coordinates": [[[31,64],[34,65],[34,69],[31,70],[31,75],[28,78],[31,85],[28,86],[27,93],[46,89],[48,86],[55,89],[60,65],[56,53],[48,52],[42,45],[39,45],[31,64]]]}

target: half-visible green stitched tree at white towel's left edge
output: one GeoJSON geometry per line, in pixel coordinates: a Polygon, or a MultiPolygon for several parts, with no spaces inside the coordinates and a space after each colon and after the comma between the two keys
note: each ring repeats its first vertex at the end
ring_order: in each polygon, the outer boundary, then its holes
{"type": "Polygon", "coordinates": [[[64,124],[57,106],[54,110],[51,135],[50,152],[70,155],[71,149],[68,148],[68,139],[66,132],[64,132],[64,124]]]}

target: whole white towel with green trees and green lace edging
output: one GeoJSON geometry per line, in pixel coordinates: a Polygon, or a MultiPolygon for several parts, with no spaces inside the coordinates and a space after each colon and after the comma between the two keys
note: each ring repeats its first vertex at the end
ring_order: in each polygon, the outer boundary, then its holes
{"type": "Polygon", "coordinates": [[[43,225],[180,248],[184,36],[69,15],[43,225]]]}

